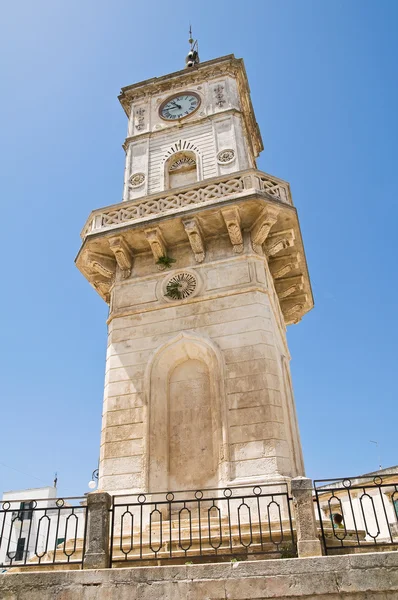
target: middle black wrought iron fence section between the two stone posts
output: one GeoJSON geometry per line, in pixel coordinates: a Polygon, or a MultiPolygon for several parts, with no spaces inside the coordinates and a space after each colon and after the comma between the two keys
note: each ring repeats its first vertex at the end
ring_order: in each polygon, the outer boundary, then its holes
{"type": "Polygon", "coordinates": [[[287,486],[113,496],[111,563],[295,556],[287,486]]]}

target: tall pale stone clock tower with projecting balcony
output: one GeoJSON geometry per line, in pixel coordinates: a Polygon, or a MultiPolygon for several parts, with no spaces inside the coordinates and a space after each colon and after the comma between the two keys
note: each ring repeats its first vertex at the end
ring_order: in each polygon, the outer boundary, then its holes
{"type": "Polygon", "coordinates": [[[109,303],[99,488],[197,489],[304,474],[286,325],[313,306],[289,184],[241,59],[122,89],[123,201],[77,266],[109,303]]]}

